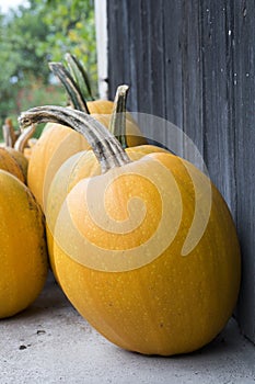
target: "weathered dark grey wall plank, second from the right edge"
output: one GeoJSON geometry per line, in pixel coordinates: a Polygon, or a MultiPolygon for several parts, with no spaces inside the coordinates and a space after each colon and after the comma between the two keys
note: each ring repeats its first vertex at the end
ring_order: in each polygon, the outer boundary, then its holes
{"type": "Polygon", "coordinates": [[[225,2],[201,1],[204,155],[212,181],[235,210],[230,15],[225,2]]]}

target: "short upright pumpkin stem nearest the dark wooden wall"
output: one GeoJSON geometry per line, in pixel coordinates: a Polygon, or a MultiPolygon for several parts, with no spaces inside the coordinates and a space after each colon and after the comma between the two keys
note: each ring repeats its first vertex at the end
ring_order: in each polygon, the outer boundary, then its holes
{"type": "Polygon", "coordinates": [[[126,102],[129,87],[119,86],[116,91],[112,118],[109,122],[109,132],[119,140],[123,148],[127,148],[126,138],[126,102]]]}

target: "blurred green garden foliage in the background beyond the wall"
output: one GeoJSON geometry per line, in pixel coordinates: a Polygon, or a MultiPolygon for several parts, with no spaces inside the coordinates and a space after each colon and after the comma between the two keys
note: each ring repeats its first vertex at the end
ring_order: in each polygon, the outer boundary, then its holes
{"type": "Polygon", "coordinates": [[[92,0],[27,0],[7,13],[0,8],[1,126],[5,117],[11,117],[18,128],[18,116],[28,108],[66,104],[65,90],[51,75],[48,63],[65,61],[67,52],[84,65],[96,97],[92,0]]]}

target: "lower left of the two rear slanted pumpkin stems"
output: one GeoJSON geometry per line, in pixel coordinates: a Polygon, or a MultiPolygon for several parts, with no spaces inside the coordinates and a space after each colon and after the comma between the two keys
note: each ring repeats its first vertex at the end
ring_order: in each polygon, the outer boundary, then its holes
{"type": "Polygon", "coordinates": [[[85,99],[82,95],[82,92],[72,78],[70,72],[63,67],[61,63],[49,63],[48,64],[53,74],[61,81],[62,86],[66,88],[72,106],[76,110],[84,111],[85,113],[90,113],[85,99]]]}

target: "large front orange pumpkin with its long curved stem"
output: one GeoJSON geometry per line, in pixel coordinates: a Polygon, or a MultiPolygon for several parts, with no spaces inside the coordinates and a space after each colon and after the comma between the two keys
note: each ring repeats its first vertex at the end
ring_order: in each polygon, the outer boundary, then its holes
{"type": "Polygon", "coordinates": [[[241,275],[236,230],[217,188],[172,154],[131,161],[82,112],[44,106],[20,122],[46,120],[83,133],[102,168],[70,191],[54,230],[70,302],[127,350],[172,355],[208,343],[233,312],[241,275]]]}

